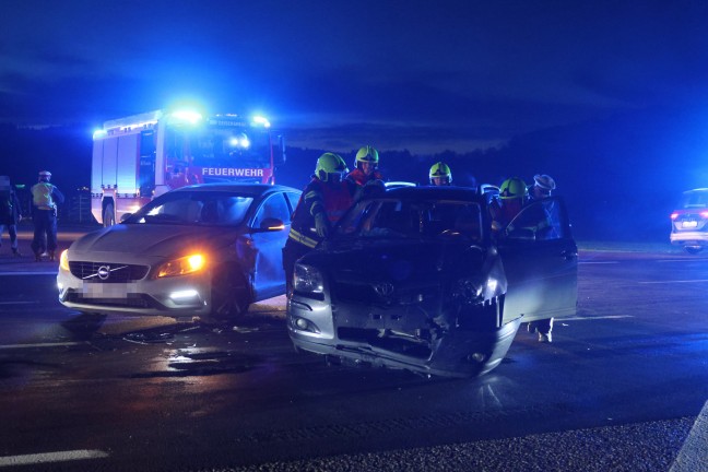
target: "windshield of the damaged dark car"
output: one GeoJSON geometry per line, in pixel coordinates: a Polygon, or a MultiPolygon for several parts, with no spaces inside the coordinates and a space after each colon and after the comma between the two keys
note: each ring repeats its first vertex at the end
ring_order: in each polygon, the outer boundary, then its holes
{"type": "Polygon", "coordinates": [[[482,214],[468,201],[365,200],[340,222],[338,237],[411,238],[451,236],[482,240],[482,214]]]}

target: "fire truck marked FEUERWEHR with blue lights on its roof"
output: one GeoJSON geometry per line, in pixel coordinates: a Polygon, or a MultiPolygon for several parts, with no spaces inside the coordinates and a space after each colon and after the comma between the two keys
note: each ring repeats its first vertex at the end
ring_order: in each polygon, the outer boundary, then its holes
{"type": "Polygon", "coordinates": [[[186,185],[272,185],[284,162],[283,137],[271,135],[263,117],[156,110],[109,120],[94,132],[91,212],[110,226],[186,185]]]}

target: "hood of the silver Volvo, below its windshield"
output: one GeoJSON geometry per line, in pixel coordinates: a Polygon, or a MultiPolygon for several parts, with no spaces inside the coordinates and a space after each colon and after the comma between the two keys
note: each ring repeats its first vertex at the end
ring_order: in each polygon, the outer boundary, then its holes
{"type": "Polygon", "coordinates": [[[170,257],[190,247],[221,247],[233,243],[243,228],[167,224],[119,224],[75,240],[72,252],[128,252],[138,257],[170,257]]]}

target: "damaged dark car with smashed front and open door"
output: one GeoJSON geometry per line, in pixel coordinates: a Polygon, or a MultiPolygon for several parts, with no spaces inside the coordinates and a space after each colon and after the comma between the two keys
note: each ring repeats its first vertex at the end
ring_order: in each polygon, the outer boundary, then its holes
{"type": "Polygon", "coordinates": [[[359,201],[295,267],[295,347],[472,377],[499,365],[522,321],[575,315],[577,247],[562,199],[524,206],[498,234],[487,206],[487,196],[455,187],[359,201]]]}

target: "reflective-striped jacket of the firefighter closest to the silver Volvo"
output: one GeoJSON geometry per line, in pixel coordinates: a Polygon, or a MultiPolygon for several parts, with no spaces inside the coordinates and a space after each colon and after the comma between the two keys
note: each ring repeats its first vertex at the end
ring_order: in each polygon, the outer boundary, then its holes
{"type": "Polygon", "coordinates": [[[331,224],[337,223],[354,203],[356,190],[347,179],[330,185],[312,178],[297,202],[287,237],[309,248],[317,246],[322,238],[315,229],[315,215],[324,212],[331,224]]]}

